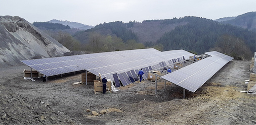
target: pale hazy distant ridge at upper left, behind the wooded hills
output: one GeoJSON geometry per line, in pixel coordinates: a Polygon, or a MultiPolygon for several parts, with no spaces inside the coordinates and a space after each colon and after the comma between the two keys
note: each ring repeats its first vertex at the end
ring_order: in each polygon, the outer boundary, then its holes
{"type": "Polygon", "coordinates": [[[56,19],[50,20],[50,21],[47,21],[47,22],[68,25],[70,28],[77,28],[77,29],[80,29],[80,30],[87,30],[87,29],[91,29],[91,28],[94,27],[94,26],[89,26],[89,25],[77,23],[77,22],[60,21],[60,20],[56,20],[56,19]]]}

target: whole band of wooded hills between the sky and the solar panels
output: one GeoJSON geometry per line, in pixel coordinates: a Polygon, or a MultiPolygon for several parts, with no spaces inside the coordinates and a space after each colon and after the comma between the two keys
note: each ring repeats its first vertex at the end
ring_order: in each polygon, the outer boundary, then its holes
{"type": "Polygon", "coordinates": [[[54,34],[52,30],[47,32],[69,50],[104,52],[153,47],[160,51],[184,49],[197,54],[217,50],[249,59],[255,51],[256,36],[252,30],[255,14],[250,12],[222,22],[184,17],[141,23],[109,22],[76,33],[66,29],[54,34]],[[227,45],[229,49],[224,48],[227,45]]]}

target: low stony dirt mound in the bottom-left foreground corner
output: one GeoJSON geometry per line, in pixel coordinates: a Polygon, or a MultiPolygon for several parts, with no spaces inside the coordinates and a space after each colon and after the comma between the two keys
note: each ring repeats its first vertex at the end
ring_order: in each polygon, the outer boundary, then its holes
{"type": "Polygon", "coordinates": [[[0,85],[0,124],[70,124],[68,116],[37,98],[18,95],[0,85]],[[64,116],[64,117],[63,117],[64,116]]]}

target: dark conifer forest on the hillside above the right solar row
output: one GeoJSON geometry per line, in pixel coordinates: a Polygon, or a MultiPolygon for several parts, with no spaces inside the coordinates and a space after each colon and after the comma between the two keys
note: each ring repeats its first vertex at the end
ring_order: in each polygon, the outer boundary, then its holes
{"type": "Polygon", "coordinates": [[[175,30],[165,33],[157,44],[162,44],[163,50],[184,49],[202,54],[214,48],[223,35],[244,41],[251,52],[255,51],[255,32],[248,31],[230,24],[199,17],[184,17],[182,19],[166,20],[165,23],[188,22],[175,30]]]}

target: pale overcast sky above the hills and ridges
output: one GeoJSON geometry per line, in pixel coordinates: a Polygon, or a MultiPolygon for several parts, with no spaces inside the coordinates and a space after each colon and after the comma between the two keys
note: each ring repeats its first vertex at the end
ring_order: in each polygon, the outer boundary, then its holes
{"type": "Polygon", "coordinates": [[[0,16],[19,16],[30,23],[57,19],[92,26],[184,16],[215,20],[252,11],[256,11],[256,0],[0,0],[0,16]]]}

